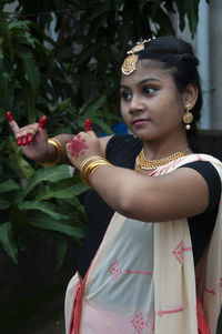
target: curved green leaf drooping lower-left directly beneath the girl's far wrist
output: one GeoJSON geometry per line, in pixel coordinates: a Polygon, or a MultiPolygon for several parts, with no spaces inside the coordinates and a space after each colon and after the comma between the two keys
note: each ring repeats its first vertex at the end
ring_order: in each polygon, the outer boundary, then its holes
{"type": "Polygon", "coordinates": [[[21,193],[21,200],[23,200],[30,193],[30,191],[42,181],[58,182],[69,176],[69,168],[64,164],[40,169],[30,178],[27,186],[21,193]]]}

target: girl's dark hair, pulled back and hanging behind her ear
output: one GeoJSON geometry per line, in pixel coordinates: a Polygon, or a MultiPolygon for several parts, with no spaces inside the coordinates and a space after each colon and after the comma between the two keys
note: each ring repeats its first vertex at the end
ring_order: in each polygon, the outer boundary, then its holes
{"type": "Polygon", "coordinates": [[[176,37],[160,37],[145,43],[144,49],[138,55],[139,59],[159,60],[163,69],[172,69],[175,87],[180,92],[184,92],[189,83],[198,88],[198,100],[191,110],[193,121],[186,135],[192,151],[199,152],[196,122],[201,117],[202,90],[196,69],[199,60],[194,55],[191,44],[176,37]]]}

